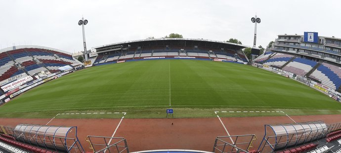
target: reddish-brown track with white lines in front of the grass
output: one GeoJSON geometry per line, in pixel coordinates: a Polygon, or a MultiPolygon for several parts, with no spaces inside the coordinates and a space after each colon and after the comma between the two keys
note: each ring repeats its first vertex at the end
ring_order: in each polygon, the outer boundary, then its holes
{"type": "MultiPolygon", "coordinates": [[[[341,122],[341,115],[291,116],[296,122],[322,120],[327,124],[341,122]]],[[[50,119],[1,118],[0,125],[15,127],[19,123],[46,124],[50,119]]],[[[264,124],[293,123],[287,116],[224,117],[221,118],[231,135],[256,134],[257,149],[264,135],[264,124]]],[[[77,126],[83,147],[87,135],[110,137],[120,119],[53,119],[48,125],[77,126]]],[[[191,149],[212,152],[217,136],[226,136],[219,119],[123,119],[114,137],[127,139],[130,152],[156,149],[191,149]],[[173,123],[173,125],[171,125],[173,123]]]]}

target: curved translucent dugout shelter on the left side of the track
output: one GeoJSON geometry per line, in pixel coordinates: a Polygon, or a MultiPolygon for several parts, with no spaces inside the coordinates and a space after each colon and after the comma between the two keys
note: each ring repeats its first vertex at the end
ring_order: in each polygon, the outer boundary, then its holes
{"type": "Polygon", "coordinates": [[[11,134],[16,140],[64,153],[84,153],[77,126],[18,124],[11,134]]]}

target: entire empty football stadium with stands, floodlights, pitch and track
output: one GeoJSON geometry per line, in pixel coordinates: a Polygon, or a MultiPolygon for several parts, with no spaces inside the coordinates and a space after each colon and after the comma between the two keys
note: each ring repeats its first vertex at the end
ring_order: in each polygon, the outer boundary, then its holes
{"type": "Polygon", "coordinates": [[[82,52],[0,49],[0,153],[341,153],[341,38],[86,49],[87,22],[82,52]]]}

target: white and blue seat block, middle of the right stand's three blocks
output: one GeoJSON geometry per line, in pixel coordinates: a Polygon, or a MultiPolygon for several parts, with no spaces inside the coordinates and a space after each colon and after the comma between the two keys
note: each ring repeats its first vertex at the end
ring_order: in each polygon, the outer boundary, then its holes
{"type": "Polygon", "coordinates": [[[312,60],[295,58],[292,62],[286,65],[283,70],[299,76],[305,76],[316,64],[317,62],[312,60]]]}

